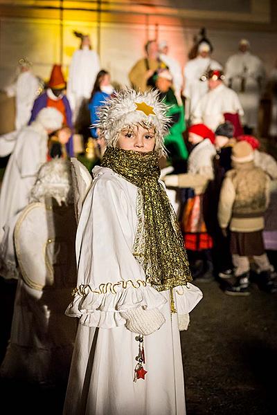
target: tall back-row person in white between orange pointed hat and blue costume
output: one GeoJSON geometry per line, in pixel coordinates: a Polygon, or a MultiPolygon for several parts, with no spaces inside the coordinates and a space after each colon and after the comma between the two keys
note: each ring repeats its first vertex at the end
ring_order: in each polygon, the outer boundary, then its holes
{"type": "Polygon", "coordinates": [[[75,50],[69,64],[69,78],[67,81],[66,95],[69,99],[73,113],[73,121],[78,116],[78,111],[83,100],[89,100],[96,75],[100,71],[98,53],[91,49],[91,39],[88,35],[75,32],[81,38],[80,49],[75,50]]]}

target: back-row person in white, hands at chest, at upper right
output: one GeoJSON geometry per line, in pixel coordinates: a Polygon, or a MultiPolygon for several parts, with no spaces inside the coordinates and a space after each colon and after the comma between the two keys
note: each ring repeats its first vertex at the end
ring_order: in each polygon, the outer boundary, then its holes
{"type": "Polygon", "coordinates": [[[226,85],[238,93],[244,110],[242,124],[245,133],[258,127],[258,109],[265,86],[265,66],[261,59],[250,52],[247,39],[239,42],[239,51],[231,55],[225,65],[226,85]]]}

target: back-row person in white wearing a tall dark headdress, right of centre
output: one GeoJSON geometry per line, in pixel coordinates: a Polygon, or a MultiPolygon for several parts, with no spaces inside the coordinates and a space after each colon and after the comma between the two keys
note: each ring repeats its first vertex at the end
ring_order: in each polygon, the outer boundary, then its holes
{"type": "Polygon", "coordinates": [[[211,46],[200,42],[198,55],[184,66],[184,90],[186,119],[189,119],[200,98],[208,92],[207,73],[211,69],[222,69],[222,65],[211,58],[211,46]]]}

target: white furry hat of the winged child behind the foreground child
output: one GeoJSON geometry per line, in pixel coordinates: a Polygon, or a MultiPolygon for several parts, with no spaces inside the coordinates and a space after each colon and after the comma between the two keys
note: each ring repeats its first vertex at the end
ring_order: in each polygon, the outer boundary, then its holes
{"type": "Polygon", "coordinates": [[[59,205],[73,203],[71,163],[55,158],[40,167],[30,192],[30,203],[44,202],[52,197],[59,205]]]}

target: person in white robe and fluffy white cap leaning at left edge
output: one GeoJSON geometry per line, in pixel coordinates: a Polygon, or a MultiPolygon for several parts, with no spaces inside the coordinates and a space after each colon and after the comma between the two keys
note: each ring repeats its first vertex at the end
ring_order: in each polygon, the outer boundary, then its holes
{"type": "Polygon", "coordinates": [[[1,185],[0,241],[6,221],[28,205],[37,171],[47,160],[48,134],[62,127],[62,118],[57,109],[44,108],[32,124],[19,131],[1,185]]]}

